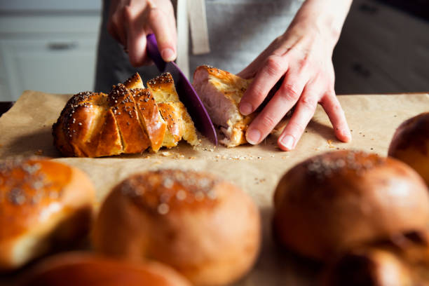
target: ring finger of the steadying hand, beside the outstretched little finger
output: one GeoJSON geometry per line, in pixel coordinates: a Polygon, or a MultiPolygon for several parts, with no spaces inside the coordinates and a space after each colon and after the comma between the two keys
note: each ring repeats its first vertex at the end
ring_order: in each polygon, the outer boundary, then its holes
{"type": "Polygon", "coordinates": [[[291,151],[297,146],[308,122],[313,118],[318,105],[319,95],[317,88],[308,84],[297,102],[294,114],[287,123],[280,137],[278,137],[278,147],[283,151],[291,151]]]}

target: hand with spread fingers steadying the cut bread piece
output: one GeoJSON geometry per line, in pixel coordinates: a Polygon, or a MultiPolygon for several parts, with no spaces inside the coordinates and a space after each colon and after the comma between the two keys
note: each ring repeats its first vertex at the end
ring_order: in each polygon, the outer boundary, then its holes
{"type": "Polygon", "coordinates": [[[247,128],[246,139],[251,144],[261,142],[294,104],[297,104],[294,114],[278,138],[280,149],[290,151],[297,146],[318,103],[329,116],[336,137],[343,142],[351,139],[346,117],[334,91],[331,58],[338,38],[323,34],[308,19],[310,17],[298,14],[285,34],[275,39],[238,74],[245,79],[254,77],[240,102],[243,115],[256,110],[284,76],[280,89],[247,128]]]}

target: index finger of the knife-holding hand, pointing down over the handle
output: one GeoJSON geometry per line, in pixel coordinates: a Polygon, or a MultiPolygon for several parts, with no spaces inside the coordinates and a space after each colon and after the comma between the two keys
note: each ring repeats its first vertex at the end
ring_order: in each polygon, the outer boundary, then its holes
{"type": "Polygon", "coordinates": [[[175,60],[176,55],[176,29],[171,29],[171,20],[168,17],[173,15],[166,15],[159,8],[151,8],[148,15],[148,25],[154,32],[156,41],[158,42],[158,49],[165,62],[175,60]]]}

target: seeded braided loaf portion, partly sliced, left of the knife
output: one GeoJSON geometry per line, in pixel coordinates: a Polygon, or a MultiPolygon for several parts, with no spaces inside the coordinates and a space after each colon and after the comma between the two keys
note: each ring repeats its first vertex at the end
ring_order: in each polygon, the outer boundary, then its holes
{"type": "Polygon", "coordinates": [[[65,156],[101,157],[175,147],[183,138],[198,144],[196,130],[179,101],[172,76],[161,74],[144,88],[139,74],[109,95],[71,97],[53,125],[54,145],[65,156]]]}

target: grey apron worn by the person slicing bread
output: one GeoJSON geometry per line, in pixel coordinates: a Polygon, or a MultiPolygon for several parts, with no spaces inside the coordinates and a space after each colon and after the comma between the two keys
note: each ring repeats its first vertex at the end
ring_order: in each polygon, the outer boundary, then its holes
{"type": "MultiPolygon", "coordinates": [[[[192,73],[201,64],[238,73],[250,64],[290,25],[303,0],[206,0],[210,53],[189,55],[192,73]]],[[[156,67],[132,67],[123,47],[107,32],[109,0],[103,4],[103,19],[97,53],[95,91],[108,93],[111,86],[139,71],[144,81],[159,74],[156,67]]],[[[191,50],[191,49],[190,49],[191,50]]]]}

